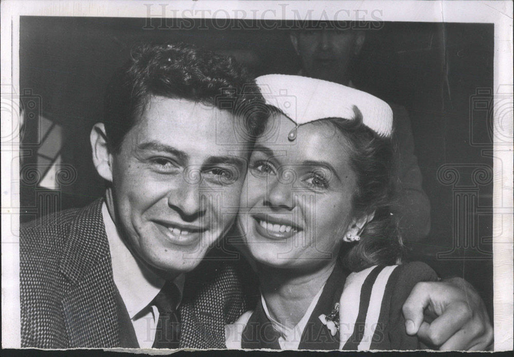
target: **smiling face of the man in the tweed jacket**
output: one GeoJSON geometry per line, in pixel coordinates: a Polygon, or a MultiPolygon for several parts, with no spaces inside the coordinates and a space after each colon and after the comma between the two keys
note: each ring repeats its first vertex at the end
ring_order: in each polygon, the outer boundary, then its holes
{"type": "Polygon", "coordinates": [[[233,131],[228,111],[152,97],[110,156],[116,225],[148,265],[189,271],[231,225],[248,156],[233,131]]]}

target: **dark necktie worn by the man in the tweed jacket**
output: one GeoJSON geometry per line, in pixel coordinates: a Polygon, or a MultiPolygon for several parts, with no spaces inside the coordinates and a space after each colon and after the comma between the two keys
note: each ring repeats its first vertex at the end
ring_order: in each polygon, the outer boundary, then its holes
{"type": "Polygon", "coordinates": [[[155,296],[153,305],[159,310],[153,348],[178,348],[180,342],[180,316],[176,309],[179,292],[175,284],[167,281],[155,296]]]}

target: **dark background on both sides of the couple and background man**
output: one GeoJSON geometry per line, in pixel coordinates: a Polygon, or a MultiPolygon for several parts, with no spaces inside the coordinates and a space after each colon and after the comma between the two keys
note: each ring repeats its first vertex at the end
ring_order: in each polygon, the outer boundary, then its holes
{"type": "MultiPolygon", "coordinates": [[[[41,203],[41,193],[48,190],[22,175],[22,222],[84,206],[102,196],[103,182],[91,161],[89,131],[101,119],[107,81],[134,44],[192,42],[234,55],[256,76],[295,74],[300,69],[286,29],[260,29],[262,24],[251,23],[255,29],[224,26],[220,30],[209,20],[189,30],[159,29],[159,19],[151,24],[154,29],[145,29],[149,25],[140,18],[21,17],[21,93],[30,89],[27,96],[40,98],[38,113],[63,127],[62,164],[76,171],[60,190],[51,193],[54,196],[46,205],[41,203]]],[[[266,25],[269,28],[273,23],[266,25]]],[[[410,114],[415,154],[432,207],[429,237],[411,245],[411,258],[428,262],[443,276],[463,276],[470,281],[492,318],[492,182],[487,167],[492,170],[488,152],[492,151],[494,27],[378,25],[379,29],[366,33],[353,82],[405,106],[410,114]],[[456,182],[438,178],[443,165],[453,168],[456,182]],[[477,167],[485,167],[485,178],[478,183],[473,176],[477,167]],[[459,208],[461,204],[467,206],[459,208]],[[458,240],[461,236],[467,238],[458,240]]],[[[35,142],[36,122],[26,119],[23,127],[22,171],[24,165],[35,162],[38,147],[30,143],[35,142]]],[[[443,176],[453,177],[448,175],[443,176]]]]}

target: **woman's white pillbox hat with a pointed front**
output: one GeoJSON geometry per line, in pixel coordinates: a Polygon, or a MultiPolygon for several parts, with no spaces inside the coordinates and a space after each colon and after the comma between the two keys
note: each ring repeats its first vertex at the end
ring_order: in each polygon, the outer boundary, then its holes
{"type": "Polygon", "coordinates": [[[286,74],[267,74],[255,81],[266,103],[282,110],[297,126],[325,118],[352,120],[356,106],[362,113],[364,125],[379,136],[391,136],[391,107],[369,93],[333,82],[286,74]]]}

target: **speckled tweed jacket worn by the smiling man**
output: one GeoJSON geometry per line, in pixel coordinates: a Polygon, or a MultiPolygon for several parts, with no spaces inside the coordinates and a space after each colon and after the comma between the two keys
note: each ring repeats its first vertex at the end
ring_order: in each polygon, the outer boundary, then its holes
{"type": "MultiPolygon", "coordinates": [[[[120,347],[116,287],[102,200],[20,232],[22,347],[120,347]]],[[[224,348],[224,325],[245,311],[235,270],[206,260],[186,276],[180,348],[224,348]]]]}

